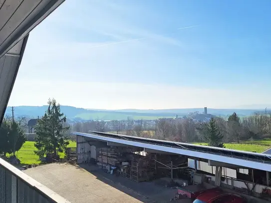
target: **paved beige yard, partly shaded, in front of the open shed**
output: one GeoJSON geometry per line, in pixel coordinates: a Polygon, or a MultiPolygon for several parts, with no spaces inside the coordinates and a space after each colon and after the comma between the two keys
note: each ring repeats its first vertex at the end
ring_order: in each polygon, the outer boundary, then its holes
{"type": "Polygon", "coordinates": [[[24,173],[71,203],[168,203],[176,192],[159,182],[136,183],[86,164],[47,164],[24,173]]]}

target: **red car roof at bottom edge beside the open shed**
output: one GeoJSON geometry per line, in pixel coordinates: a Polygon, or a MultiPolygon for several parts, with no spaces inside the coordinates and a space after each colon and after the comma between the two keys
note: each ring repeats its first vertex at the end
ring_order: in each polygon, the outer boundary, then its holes
{"type": "Polygon", "coordinates": [[[225,194],[220,191],[203,193],[193,203],[246,203],[246,200],[234,194],[225,194]]]}

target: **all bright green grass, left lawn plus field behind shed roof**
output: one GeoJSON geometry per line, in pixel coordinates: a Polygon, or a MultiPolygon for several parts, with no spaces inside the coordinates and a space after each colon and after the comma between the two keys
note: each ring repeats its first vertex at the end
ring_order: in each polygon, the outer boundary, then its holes
{"type": "MultiPolygon", "coordinates": [[[[196,145],[207,145],[207,143],[193,143],[196,145]]],[[[70,141],[68,147],[76,147],[76,142],[70,141]]],[[[245,141],[242,143],[226,143],[225,147],[233,150],[241,150],[248,152],[258,152],[262,153],[265,150],[271,148],[271,139],[265,140],[254,140],[254,141],[245,141]]],[[[40,164],[38,156],[35,155],[34,151],[36,150],[34,142],[26,141],[21,149],[16,152],[16,157],[20,160],[21,165],[28,164],[40,164]]],[[[59,153],[60,158],[64,157],[64,153],[59,153]]]]}

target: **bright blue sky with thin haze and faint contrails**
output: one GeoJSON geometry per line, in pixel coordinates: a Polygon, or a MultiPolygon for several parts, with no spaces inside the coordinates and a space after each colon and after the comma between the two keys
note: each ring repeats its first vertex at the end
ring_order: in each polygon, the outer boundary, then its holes
{"type": "MultiPolygon", "coordinates": [[[[271,1],[66,0],[29,35],[9,106],[271,104],[271,1]]],[[[271,105],[270,105],[271,106],[271,105]]]]}

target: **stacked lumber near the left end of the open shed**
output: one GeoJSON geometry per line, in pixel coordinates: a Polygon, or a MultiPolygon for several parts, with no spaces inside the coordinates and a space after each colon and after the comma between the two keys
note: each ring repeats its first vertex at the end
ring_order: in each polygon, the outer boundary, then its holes
{"type": "Polygon", "coordinates": [[[118,160],[118,151],[115,148],[99,148],[97,149],[97,154],[97,165],[99,166],[116,166],[120,163],[118,160]]]}

